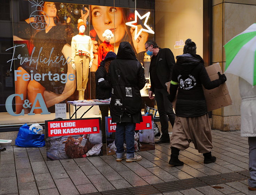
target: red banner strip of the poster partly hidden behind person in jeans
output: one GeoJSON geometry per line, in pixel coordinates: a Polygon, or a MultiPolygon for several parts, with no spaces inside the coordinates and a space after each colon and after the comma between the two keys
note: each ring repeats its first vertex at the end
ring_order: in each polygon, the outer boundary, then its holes
{"type": "MultiPolygon", "coordinates": [[[[152,116],[142,116],[143,122],[136,123],[135,130],[144,130],[144,129],[152,129],[152,116]]],[[[115,132],[115,128],[117,127],[117,123],[111,123],[112,121],[111,117],[107,118],[107,127],[108,132],[112,133],[115,132]]]]}

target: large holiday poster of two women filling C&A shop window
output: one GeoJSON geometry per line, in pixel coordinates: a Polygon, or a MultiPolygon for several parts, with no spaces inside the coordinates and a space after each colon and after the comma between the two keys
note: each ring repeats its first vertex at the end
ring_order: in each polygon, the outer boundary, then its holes
{"type": "MultiPolygon", "coordinates": [[[[113,33],[110,44],[115,53],[120,42],[128,41],[142,60],[145,42],[154,38],[153,10],[137,9],[139,18],[131,8],[34,0],[18,0],[16,9],[19,14],[13,18],[14,47],[7,49],[13,51],[13,58],[7,63],[14,73],[15,94],[7,98],[6,108],[13,116],[54,113],[55,104],[78,99],[81,89],[77,86],[81,83],[84,99],[92,99],[95,78],[91,78],[94,74],[90,72],[97,70],[105,30],[113,33]],[[72,38],[79,34],[78,21],[86,25],[83,35],[91,40],[92,52],[88,48],[75,48],[72,52],[72,38]],[[133,26],[126,25],[133,21],[136,21],[133,26]],[[147,28],[152,32],[144,31],[147,28]],[[88,82],[77,81],[80,72],[75,68],[78,67],[75,57],[78,55],[93,56],[93,64],[87,69],[88,82]],[[13,100],[15,107],[12,107],[13,100]]],[[[82,66],[88,68],[89,61],[82,66]]]]}

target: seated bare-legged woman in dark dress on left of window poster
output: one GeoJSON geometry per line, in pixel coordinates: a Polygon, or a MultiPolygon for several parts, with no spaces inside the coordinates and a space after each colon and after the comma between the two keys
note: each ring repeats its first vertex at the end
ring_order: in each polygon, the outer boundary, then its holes
{"type": "MultiPolygon", "coordinates": [[[[70,56],[71,49],[70,46],[65,46],[66,43],[71,44],[74,32],[68,25],[58,24],[59,19],[54,2],[45,1],[43,5],[37,5],[37,8],[37,15],[25,20],[28,27],[16,32],[21,39],[27,39],[30,35],[30,42],[35,47],[32,55],[38,58],[38,63],[23,63],[17,68],[17,74],[20,76],[17,76],[15,81],[15,92],[23,94],[23,100],[16,96],[16,114],[21,113],[25,99],[33,104],[38,93],[42,95],[46,106],[51,107],[71,96],[76,87],[75,71],[71,64],[67,63],[70,61],[67,57],[70,56]],[[47,61],[48,59],[52,60],[51,63],[47,61]],[[29,79],[23,78],[24,74],[35,75],[36,73],[41,75],[38,81],[32,76],[29,79]],[[43,74],[48,73],[49,75],[43,77],[43,74]],[[51,77],[50,74],[52,74],[51,77]],[[69,76],[72,79],[69,79],[69,76]]],[[[83,14],[81,11],[81,17],[85,22],[88,14],[88,12],[83,14]]],[[[16,36],[14,36],[15,39],[16,36]]],[[[35,106],[40,106],[38,101],[35,106]]],[[[34,109],[34,113],[41,113],[41,109],[34,109]]]]}

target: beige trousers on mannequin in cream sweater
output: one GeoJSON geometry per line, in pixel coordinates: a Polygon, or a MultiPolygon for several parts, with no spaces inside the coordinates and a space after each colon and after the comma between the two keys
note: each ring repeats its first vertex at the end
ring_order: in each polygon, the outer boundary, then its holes
{"type": "Polygon", "coordinates": [[[89,75],[89,57],[88,56],[75,56],[75,70],[77,71],[77,90],[85,90],[88,82],[89,75]]]}

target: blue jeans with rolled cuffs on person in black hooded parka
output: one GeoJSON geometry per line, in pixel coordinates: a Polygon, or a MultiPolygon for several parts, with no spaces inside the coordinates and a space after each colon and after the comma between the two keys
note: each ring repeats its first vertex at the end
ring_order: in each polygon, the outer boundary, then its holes
{"type": "Polygon", "coordinates": [[[121,122],[117,123],[117,128],[115,129],[115,147],[117,147],[118,158],[123,157],[125,154],[125,149],[123,148],[123,143],[126,140],[126,158],[132,159],[134,157],[134,130],[136,123],[131,122],[121,122]]]}

